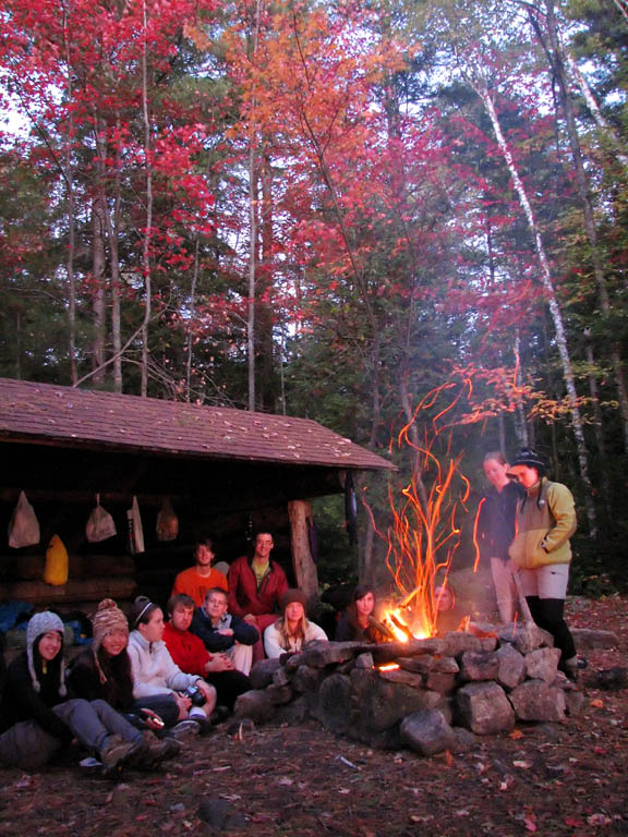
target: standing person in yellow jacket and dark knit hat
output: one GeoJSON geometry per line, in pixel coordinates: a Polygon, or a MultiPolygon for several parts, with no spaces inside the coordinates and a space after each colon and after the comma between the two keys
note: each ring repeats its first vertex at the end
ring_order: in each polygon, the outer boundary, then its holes
{"type": "Polygon", "coordinates": [[[559,668],[575,679],[584,660],[578,659],[564,610],[576,508],[567,486],[550,482],[545,471],[545,463],[530,448],[519,451],[510,465],[510,473],[519,480],[526,496],[518,507],[517,535],[508,553],[519,568],[532,618],[554,636],[554,644],[560,650],[559,668]]]}

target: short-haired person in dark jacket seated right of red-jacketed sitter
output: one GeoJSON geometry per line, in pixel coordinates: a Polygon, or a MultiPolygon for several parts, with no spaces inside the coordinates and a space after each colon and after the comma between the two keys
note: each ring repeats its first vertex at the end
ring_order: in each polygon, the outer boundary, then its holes
{"type": "Polygon", "coordinates": [[[228,611],[227,593],[220,587],[207,591],[203,607],[192,618],[190,631],[200,636],[210,654],[227,654],[238,671],[249,675],[253,645],[259,634],[255,626],[228,611]]]}

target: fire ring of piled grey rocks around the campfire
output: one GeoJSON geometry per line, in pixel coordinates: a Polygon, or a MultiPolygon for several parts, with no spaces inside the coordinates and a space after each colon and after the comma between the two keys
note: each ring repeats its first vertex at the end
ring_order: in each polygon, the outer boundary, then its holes
{"type": "Polygon", "coordinates": [[[583,695],[558,671],[560,652],[535,624],[503,626],[491,636],[364,645],[317,642],[257,663],[239,718],[300,723],[370,747],[407,745],[422,755],[464,747],[469,731],[509,732],[517,720],[559,721],[583,695]]]}

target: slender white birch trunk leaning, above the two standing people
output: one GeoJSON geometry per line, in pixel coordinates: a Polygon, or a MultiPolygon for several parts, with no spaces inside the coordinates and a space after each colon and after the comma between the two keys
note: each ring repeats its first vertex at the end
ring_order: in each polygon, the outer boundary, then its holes
{"type": "Polygon", "coordinates": [[[595,523],[595,508],[593,506],[593,499],[592,499],[593,488],[591,485],[591,477],[589,476],[589,452],[587,450],[587,442],[584,439],[582,416],[580,415],[580,410],[578,408],[578,392],[576,390],[576,378],[573,376],[573,368],[571,365],[571,359],[569,356],[569,348],[567,345],[567,337],[565,333],[565,326],[563,323],[563,314],[560,312],[560,306],[558,305],[558,300],[556,299],[556,292],[554,290],[552,271],[550,269],[550,262],[547,259],[547,254],[545,253],[545,246],[541,238],[541,232],[539,230],[536,219],[534,218],[534,213],[532,211],[532,206],[530,204],[530,201],[528,199],[528,193],[526,192],[523,182],[519,177],[519,172],[515,165],[512,154],[510,153],[510,148],[502,131],[502,125],[499,123],[499,119],[497,118],[497,112],[495,111],[495,106],[493,104],[493,99],[491,98],[491,94],[488,93],[488,89],[484,83],[472,81],[471,84],[473,86],[473,89],[480,96],[482,104],[484,105],[484,108],[486,110],[486,114],[491,120],[491,124],[493,126],[493,131],[495,133],[495,137],[499,146],[499,150],[502,151],[504,160],[506,161],[506,165],[508,167],[508,171],[510,172],[510,177],[512,179],[512,183],[515,185],[515,190],[517,192],[519,203],[521,205],[521,208],[523,210],[523,214],[528,221],[528,226],[530,228],[530,232],[534,241],[534,250],[536,252],[536,256],[539,258],[539,264],[541,267],[541,280],[543,282],[543,287],[545,288],[545,292],[547,294],[547,304],[550,306],[550,312],[552,314],[552,319],[554,323],[556,344],[558,347],[558,353],[560,355],[560,363],[563,366],[563,377],[565,380],[565,387],[567,389],[567,395],[571,402],[570,404],[571,427],[573,429],[573,436],[576,438],[576,448],[578,452],[580,476],[584,485],[584,504],[587,509],[587,518],[589,520],[589,531],[591,536],[594,537],[596,535],[596,523],[595,523]]]}

